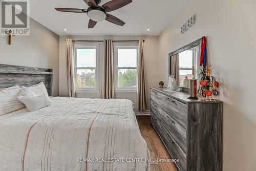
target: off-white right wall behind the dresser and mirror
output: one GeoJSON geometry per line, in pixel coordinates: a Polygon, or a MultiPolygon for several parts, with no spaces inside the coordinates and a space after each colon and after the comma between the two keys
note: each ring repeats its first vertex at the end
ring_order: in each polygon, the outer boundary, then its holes
{"type": "Polygon", "coordinates": [[[167,81],[168,53],[204,35],[212,75],[224,101],[223,170],[256,170],[256,1],[189,1],[159,36],[159,80],[167,81]],[[196,24],[180,27],[193,14],[196,24]]]}

